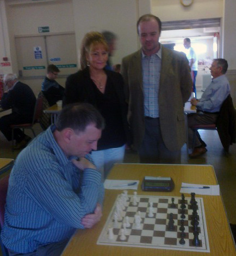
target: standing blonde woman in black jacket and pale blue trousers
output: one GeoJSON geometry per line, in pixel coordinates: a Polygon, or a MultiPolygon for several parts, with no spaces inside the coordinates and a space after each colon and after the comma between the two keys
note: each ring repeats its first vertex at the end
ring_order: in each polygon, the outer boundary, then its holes
{"type": "MultiPolygon", "coordinates": [[[[64,104],[86,102],[94,105],[105,119],[105,129],[91,156],[103,180],[114,163],[122,163],[128,139],[127,104],[123,79],[105,70],[108,45],[101,33],[85,34],[80,49],[81,70],[66,80],[64,104]]],[[[90,141],[88,141],[90,143],[90,141]]]]}

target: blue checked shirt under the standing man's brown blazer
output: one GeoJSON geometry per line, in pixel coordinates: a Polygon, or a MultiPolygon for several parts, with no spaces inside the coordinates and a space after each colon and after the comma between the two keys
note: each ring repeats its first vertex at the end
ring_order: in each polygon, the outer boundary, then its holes
{"type": "Polygon", "coordinates": [[[159,117],[159,85],[162,69],[162,45],[157,53],[146,56],[142,52],[142,84],[144,88],[144,116],[159,117]]]}

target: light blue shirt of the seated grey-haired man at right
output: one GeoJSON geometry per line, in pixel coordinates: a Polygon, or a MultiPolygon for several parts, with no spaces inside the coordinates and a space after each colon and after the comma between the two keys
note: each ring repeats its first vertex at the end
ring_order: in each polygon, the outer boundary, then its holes
{"type": "Polygon", "coordinates": [[[226,75],[214,78],[197,103],[197,110],[219,112],[223,101],[227,98],[229,93],[230,85],[226,75]]]}

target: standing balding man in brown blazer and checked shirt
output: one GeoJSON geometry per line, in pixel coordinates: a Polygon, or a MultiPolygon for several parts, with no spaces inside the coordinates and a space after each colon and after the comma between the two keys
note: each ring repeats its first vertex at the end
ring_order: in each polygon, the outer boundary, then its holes
{"type": "Polygon", "coordinates": [[[162,23],[146,14],[137,22],[141,49],[122,60],[128,121],[141,163],[180,163],[184,103],[192,87],[188,59],[159,43],[162,23]]]}

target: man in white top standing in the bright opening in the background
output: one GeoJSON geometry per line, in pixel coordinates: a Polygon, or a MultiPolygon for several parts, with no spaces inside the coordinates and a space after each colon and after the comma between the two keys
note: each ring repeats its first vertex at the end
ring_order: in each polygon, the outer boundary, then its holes
{"type": "Polygon", "coordinates": [[[189,60],[189,67],[191,69],[191,76],[192,76],[192,91],[195,94],[195,98],[197,97],[196,91],[196,76],[197,76],[197,55],[194,49],[191,47],[191,40],[189,38],[184,38],[184,47],[188,50],[187,58],[189,60]]]}

